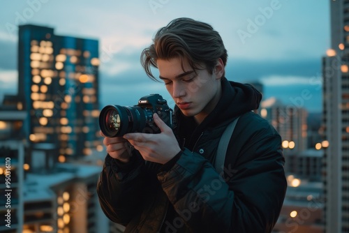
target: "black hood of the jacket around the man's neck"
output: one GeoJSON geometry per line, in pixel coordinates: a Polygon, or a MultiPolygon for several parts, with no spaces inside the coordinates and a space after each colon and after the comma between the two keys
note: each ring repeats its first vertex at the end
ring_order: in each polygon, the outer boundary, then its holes
{"type": "MultiPolygon", "coordinates": [[[[178,120],[177,133],[181,137],[191,135],[191,139],[198,138],[205,128],[214,128],[224,121],[232,121],[236,117],[258,109],[262,94],[251,84],[228,81],[223,77],[222,96],[212,112],[198,125],[194,117],[186,117],[177,106],[174,113],[178,120]]],[[[191,141],[192,141],[191,140],[191,141]]]]}

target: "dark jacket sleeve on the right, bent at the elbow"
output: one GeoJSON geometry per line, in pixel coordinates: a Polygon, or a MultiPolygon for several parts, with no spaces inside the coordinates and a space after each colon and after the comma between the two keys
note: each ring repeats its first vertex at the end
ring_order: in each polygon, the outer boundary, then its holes
{"type": "Polygon", "coordinates": [[[235,128],[232,141],[224,179],[187,149],[172,169],[158,174],[193,232],[271,232],[279,217],[287,188],[281,137],[269,123],[250,121],[235,128]]]}

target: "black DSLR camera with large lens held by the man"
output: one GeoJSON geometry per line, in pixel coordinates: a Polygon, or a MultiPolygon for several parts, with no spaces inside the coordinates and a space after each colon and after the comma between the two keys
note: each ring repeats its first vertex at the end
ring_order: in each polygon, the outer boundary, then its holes
{"type": "Polygon", "coordinates": [[[161,133],[154,123],[153,114],[172,128],[172,109],[157,93],[143,96],[138,105],[107,105],[99,114],[99,126],[107,137],[122,137],[126,133],[161,133]]]}

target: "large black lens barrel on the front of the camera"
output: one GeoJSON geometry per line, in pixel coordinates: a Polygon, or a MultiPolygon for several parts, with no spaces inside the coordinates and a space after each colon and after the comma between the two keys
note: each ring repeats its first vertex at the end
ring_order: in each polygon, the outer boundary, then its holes
{"type": "Polygon", "coordinates": [[[126,133],[142,132],[152,119],[152,112],[138,106],[107,105],[99,115],[99,126],[107,137],[122,137],[126,133]]]}

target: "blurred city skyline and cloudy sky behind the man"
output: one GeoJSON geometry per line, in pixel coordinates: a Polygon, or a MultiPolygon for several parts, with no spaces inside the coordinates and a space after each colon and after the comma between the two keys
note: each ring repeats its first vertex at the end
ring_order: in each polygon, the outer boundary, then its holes
{"type": "Polygon", "coordinates": [[[349,232],[349,0],[1,2],[0,232],[122,232],[98,203],[98,117],[163,84],[140,66],[156,30],[221,33],[228,80],[263,94],[288,192],[274,232],[349,232]]]}

